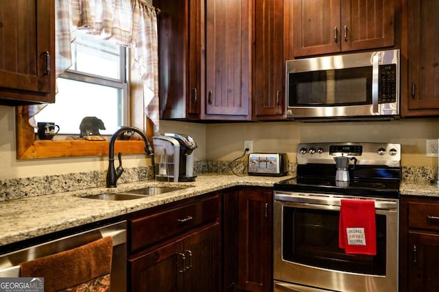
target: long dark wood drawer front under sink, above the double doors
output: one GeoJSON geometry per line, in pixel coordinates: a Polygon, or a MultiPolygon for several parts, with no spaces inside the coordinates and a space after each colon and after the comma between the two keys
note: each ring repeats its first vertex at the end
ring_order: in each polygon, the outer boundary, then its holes
{"type": "Polygon", "coordinates": [[[219,196],[130,220],[131,252],[185,233],[219,218],[219,196]]]}

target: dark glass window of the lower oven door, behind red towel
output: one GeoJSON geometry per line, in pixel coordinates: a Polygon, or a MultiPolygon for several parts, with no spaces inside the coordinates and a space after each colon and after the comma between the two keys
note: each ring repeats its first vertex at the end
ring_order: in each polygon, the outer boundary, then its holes
{"type": "Polygon", "coordinates": [[[283,259],[313,267],[385,275],[385,215],[376,215],[377,255],[345,254],[338,247],[340,211],[283,208],[283,259]]]}

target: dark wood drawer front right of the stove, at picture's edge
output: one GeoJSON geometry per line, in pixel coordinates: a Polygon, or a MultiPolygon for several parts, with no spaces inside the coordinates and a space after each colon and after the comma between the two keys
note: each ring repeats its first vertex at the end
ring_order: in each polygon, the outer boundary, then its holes
{"type": "Polygon", "coordinates": [[[409,227],[439,230],[439,204],[410,202],[409,227]]]}

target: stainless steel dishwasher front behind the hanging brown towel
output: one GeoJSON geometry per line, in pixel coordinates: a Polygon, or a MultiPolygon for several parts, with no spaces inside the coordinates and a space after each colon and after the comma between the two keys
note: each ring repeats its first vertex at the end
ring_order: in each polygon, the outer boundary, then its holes
{"type": "Polygon", "coordinates": [[[0,277],[19,277],[20,263],[78,248],[81,245],[110,236],[113,243],[110,291],[126,292],[126,228],[126,221],[106,224],[91,230],[33,245],[29,248],[2,254],[0,255],[0,277]]]}

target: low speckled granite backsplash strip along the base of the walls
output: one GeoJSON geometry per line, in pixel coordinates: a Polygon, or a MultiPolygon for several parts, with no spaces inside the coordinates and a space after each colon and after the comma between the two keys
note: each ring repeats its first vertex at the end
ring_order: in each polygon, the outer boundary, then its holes
{"type": "MultiPolygon", "coordinates": [[[[195,174],[235,174],[246,175],[246,161],[195,161],[195,174]]],[[[296,163],[289,163],[289,176],[296,176],[296,163]]],[[[0,201],[34,196],[78,191],[94,187],[104,187],[106,170],[78,172],[51,176],[11,178],[0,181],[0,201]]],[[[154,179],[152,166],[126,168],[117,183],[132,183],[154,179]]],[[[438,179],[438,168],[413,166],[403,167],[403,181],[429,183],[438,179]]]]}

